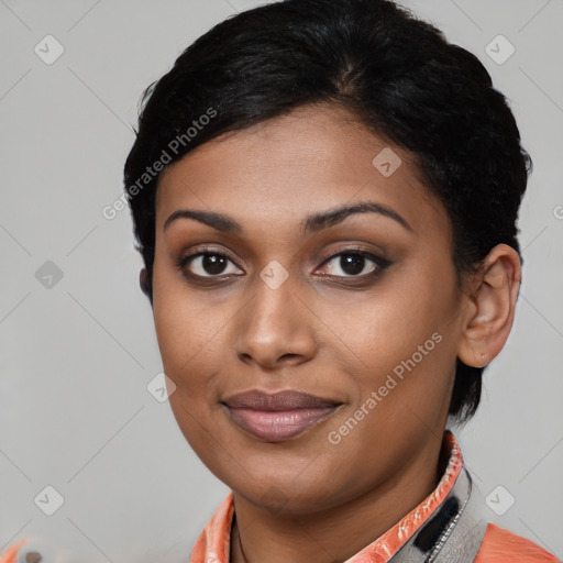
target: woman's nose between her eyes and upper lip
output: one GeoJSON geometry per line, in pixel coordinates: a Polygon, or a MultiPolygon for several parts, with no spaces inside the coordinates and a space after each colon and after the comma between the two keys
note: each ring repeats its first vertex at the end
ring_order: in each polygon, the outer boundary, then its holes
{"type": "Polygon", "coordinates": [[[257,277],[254,287],[254,296],[238,316],[238,357],[264,369],[310,361],[317,352],[314,327],[319,321],[306,296],[299,295],[298,284],[291,276],[279,286],[257,277]]]}

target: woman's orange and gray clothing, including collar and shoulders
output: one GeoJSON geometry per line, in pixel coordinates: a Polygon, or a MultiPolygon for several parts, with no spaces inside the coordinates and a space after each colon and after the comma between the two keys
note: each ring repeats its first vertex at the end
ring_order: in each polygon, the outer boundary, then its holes
{"type": "MultiPolygon", "coordinates": [[[[464,467],[460,444],[444,432],[448,466],[437,488],[393,528],[344,563],[561,563],[532,541],[486,520],[485,505],[464,467]]],[[[194,545],[190,563],[229,563],[233,494],[216,510],[194,545]]],[[[0,563],[20,563],[26,540],[0,563]]],[[[31,544],[27,544],[31,548],[31,544]]]]}

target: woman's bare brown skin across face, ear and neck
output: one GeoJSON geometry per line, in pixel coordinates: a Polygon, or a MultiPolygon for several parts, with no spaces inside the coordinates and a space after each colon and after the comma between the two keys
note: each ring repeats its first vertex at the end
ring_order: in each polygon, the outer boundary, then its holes
{"type": "Polygon", "coordinates": [[[300,108],[165,168],[156,201],[156,334],[176,385],[169,401],[179,428],[233,489],[234,563],[244,561],[239,540],[249,563],[344,561],[435,488],[455,360],[483,366],[498,354],[520,282],[518,255],[498,245],[460,291],[451,254],[450,219],[412,155],[340,108],[300,108]],[[402,161],[389,177],[372,164],[385,147],[402,161]],[[301,232],[307,214],[360,201],[391,208],[410,230],[365,212],[301,232]],[[242,233],[192,219],[165,230],[179,209],[228,214],[242,233]],[[228,254],[224,268],[206,271],[196,258],[183,273],[176,262],[202,247],[228,254]],[[351,247],[390,265],[365,258],[351,275],[341,256],[331,258],[351,247]],[[276,289],[260,276],[272,261],[288,275],[276,289]],[[186,272],[207,277],[190,282],[186,272]],[[329,432],[437,332],[442,340],[416,368],[330,443],[329,432]],[[343,405],[292,439],[267,442],[233,424],[220,404],[254,388],[343,405]]]}

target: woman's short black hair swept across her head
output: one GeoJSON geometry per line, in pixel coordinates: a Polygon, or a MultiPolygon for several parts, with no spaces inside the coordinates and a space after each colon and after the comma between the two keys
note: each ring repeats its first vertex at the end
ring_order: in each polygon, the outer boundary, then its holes
{"type": "MultiPolygon", "coordinates": [[[[532,161],[478,58],[390,0],[284,0],[217,24],[143,92],[124,183],[151,305],[159,177],[151,167],[322,102],[413,154],[451,219],[459,280],[500,243],[522,261],[517,219],[532,161]]],[[[459,424],[478,407],[483,371],[457,358],[449,413],[459,424]]]]}

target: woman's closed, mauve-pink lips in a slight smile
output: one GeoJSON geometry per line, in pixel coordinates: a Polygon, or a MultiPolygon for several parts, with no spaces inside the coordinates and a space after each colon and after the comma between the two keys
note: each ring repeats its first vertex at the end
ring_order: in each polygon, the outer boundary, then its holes
{"type": "Polygon", "coordinates": [[[295,390],[268,394],[256,389],[234,395],[221,404],[232,422],[267,442],[295,438],[320,424],[343,405],[295,390]]]}

